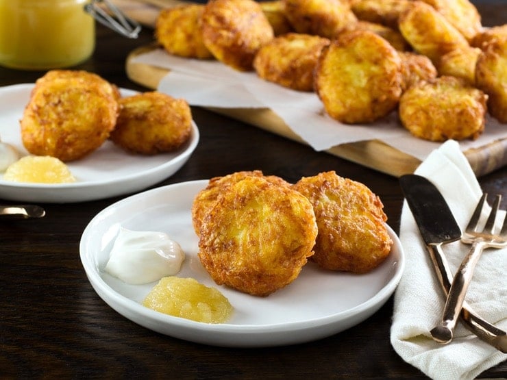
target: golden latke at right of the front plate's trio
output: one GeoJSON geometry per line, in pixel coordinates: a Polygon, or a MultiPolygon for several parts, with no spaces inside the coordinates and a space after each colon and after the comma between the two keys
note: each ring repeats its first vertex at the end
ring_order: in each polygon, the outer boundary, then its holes
{"type": "Polygon", "coordinates": [[[303,177],[293,189],[313,205],[319,234],[310,259],[319,266],[366,273],[389,255],[384,205],[363,183],[330,171],[303,177]]]}

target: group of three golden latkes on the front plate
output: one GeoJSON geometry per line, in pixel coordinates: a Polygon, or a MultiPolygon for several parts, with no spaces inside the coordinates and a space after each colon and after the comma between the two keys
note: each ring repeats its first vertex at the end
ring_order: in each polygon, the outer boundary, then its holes
{"type": "Polygon", "coordinates": [[[267,296],[308,262],[367,273],[393,244],[380,198],[334,171],[290,184],[260,170],[210,179],[193,202],[199,259],[218,285],[267,296]]]}

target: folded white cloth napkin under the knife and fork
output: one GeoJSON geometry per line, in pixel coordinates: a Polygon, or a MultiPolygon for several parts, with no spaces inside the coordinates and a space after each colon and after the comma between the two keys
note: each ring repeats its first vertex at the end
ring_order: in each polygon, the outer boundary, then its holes
{"type": "MultiPolygon", "coordinates": [[[[415,173],[435,184],[458,225],[465,229],[482,190],[458,143],[450,140],[442,144],[428,155],[415,173]]],[[[445,297],[406,202],[400,226],[406,270],[395,292],[391,327],[391,344],[398,355],[433,379],[473,379],[507,359],[507,354],[479,340],[460,322],[452,342],[446,345],[434,342],[430,330],[442,316],[445,297]]],[[[470,246],[454,242],[443,247],[455,273],[470,246]]],[[[466,297],[477,314],[502,329],[507,329],[506,270],[507,249],[484,251],[466,297]]]]}

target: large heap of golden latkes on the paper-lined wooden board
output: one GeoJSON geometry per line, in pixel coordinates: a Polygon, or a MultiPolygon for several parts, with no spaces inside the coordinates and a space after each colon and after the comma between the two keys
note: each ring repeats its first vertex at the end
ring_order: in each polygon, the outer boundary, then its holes
{"type": "Polygon", "coordinates": [[[507,123],[507,25],[468,0],[210,0],[162,10],[164,49],[313,91],[350,125],[394,110],[411,134],[475,139],[507,123]]]}

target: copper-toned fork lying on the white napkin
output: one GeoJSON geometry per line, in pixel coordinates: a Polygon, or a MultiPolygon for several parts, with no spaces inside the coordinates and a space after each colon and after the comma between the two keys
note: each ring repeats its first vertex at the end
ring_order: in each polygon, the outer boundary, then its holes
{"type": "Polygon", "coordinates": [[[465,233],[461,238],[461,241],[465,244],[471,244],[471,249],[463,259],[460,268],[458,268],[454,276],[445,302],[442,320],[430,331],[433,339],[442,344],[447,344],[452,340],[454,327],[456,327],[456,322],[460,315],[463,301],[465,300],[465,294],[467,293],[469,283],[473,276],[475,264],[477,264],[482,251],[486,248],[500,249],[507,246],[507,216],[504,218],[501,231],[495,233],[495,229],[498,229],[496,219],[500,201],[502,200],[501,195],[495,197],[484,229],[478,231],[482,208],[486,203],[487,197],[487,193],[482,194],[470,218],[469,224],[465,229],[465,233]]]}

